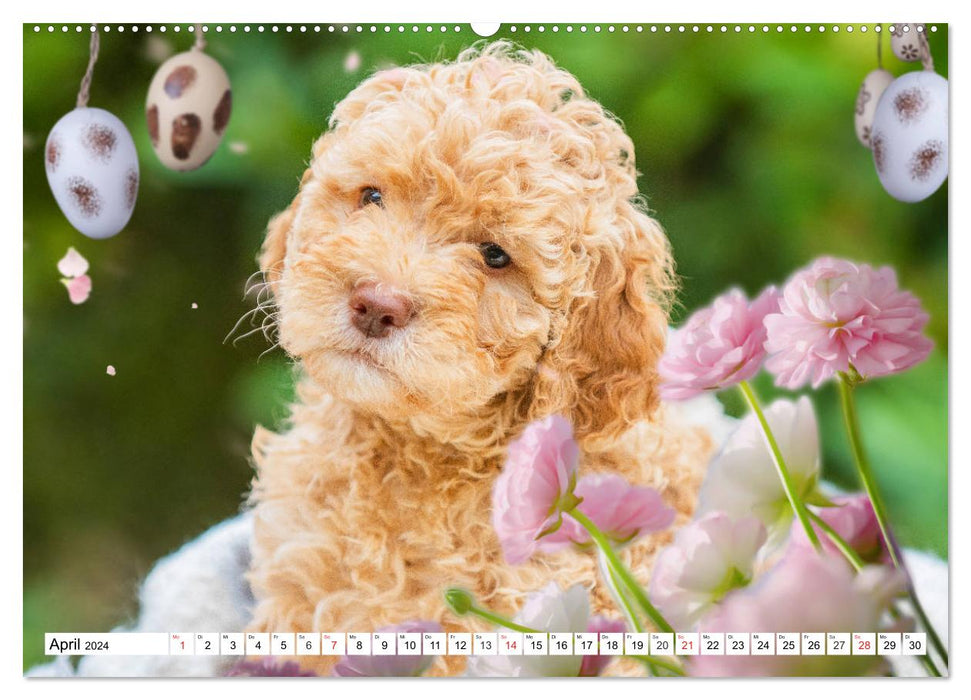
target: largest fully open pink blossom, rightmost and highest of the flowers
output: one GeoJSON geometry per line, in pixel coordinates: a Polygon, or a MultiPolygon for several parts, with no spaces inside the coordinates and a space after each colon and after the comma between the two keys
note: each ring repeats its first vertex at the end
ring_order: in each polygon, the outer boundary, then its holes
{"type": "Polygon", "coordinates": [[[851,368],[862,377],[902,372],[933,347],[927,319],[917,297],[897,289],[893,269],[819,258],[792,276],[778,313],[765,317],[766,368],[789,389],[851,368]]]}

